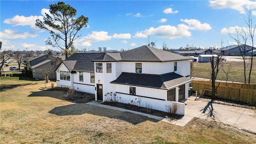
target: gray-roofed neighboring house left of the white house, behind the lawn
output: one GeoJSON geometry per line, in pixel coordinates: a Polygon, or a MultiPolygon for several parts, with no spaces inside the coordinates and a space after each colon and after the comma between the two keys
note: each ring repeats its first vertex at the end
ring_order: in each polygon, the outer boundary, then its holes
{"type": "Polygon", "coordinates": [[[50,80],[56,80],[56,73],[52,68],[60,64],[61,58],[56,58],[49,54],[43,54],[31,60],[28,60],[28,68],[32,71],[33,78],[44,79],[42,73],[50,72],[48,78],[50,80]]]}

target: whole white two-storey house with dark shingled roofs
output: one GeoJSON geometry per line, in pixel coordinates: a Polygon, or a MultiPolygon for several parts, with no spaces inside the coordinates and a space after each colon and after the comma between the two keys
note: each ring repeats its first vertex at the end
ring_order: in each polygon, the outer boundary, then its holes
{"type": "Polygon", "coordinates": [[[149,46],[121,53],[73,54],[56,68],[56,81],[58,87],[95,94],[99,101],[109,99],[112,92],[118,102],[155,110],[166,111],[165,106],[176,103],[177,114],[184,114],[192,59],[149,46]]]}

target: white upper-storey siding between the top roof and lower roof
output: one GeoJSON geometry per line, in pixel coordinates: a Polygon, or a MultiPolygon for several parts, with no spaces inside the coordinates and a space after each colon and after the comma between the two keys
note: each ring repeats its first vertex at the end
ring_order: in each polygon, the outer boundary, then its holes
{"type": "Polygon", "coordinates": [[[122,72],[135,73],[136,63],[142,63],[142,74],[166,74],[174,72],[174,62],[177,62],[177,74],[189,76],[190,60],[173,62],[122,62],[122,72]]]}

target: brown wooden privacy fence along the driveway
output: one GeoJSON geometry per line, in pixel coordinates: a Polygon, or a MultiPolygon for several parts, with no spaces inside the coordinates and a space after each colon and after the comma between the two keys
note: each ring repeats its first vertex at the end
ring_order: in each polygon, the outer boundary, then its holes
{"type": "MultiPolygon", "coordinates": [[[[218,86],[218,84],[219,82],[216,82],[216,86],[218,86]]],[[[231,87],[230,85],[226,86],[225,82],[221,82],[216,90],[216,98],[256,105],[256,84],[252,84],[252,86],[249,86],[250,84],[239,85],[241,85],[241,87],[238,87],[236,84],[234,84],[236,87],[231,87]]],[[[208,81],[193,80],[190,86],[193,87],[194,91],[198,91],[198,94],[200,94],[200,90],[202,90],[202,94],[204,94],[204,90],[212,90],[212,84],[208,81]]]]}

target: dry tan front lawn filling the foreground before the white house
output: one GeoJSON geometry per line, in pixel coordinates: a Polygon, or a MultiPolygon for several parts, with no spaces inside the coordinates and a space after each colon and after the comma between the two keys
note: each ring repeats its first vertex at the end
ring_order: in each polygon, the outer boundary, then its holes
{"type": "Polygon", "coordinates": [[[194,118],[180,127],[144,116],[76,104],[43,82],[1,80],[1,144],[11,143],[256,143],[256,136],[194,118]],[[18,85],[18,86],[15,86],[18,85]]]}

